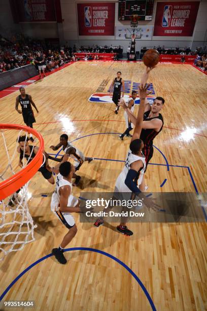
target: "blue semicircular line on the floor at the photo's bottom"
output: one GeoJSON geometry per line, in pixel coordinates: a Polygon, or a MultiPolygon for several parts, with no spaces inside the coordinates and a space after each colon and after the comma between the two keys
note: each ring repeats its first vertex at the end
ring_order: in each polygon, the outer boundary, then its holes
{"type": "MultiPolygon", "coordinates": [[[[99,253],[101,255],[105,255],[111,259],[113,259],[114,261],[116,261],[117,263],[119,263],[122,267],[124,267],[136,280],[136,282],[140,285],[140,287],[142,288],[143,292],[145,293],[151,308],[153,311],[156,311],[156,307],[154,305],[154,302],[152,301],[152,298],[150,297],[150,294],[148,293],[146,287],[144,286],[144,284],[142,283],[141,279],[120,259],[114,257],[113,255],[100,251],[100,250],[96,250],[95,248],[91,248],[91,247],[71,247],[71,248],[66,248],[64,252],[71,252],[71,251],[90,251],[90,252],[94,252],[94,253],[99,253]]],[[[28,270],[30,270],[32,267],[36,266],[37,264],[39,264],[40,262],[42,262],[43,260],[49,258],[53,256],[52,254],[46,255],[42,258],[40,258],[39,260],[35,261],[34,263],[32,263],[30,266],[28,266],[25,270],[23,270],[15,279],[14,281],[12,281],[12,283],[6,288],[6,290],[2,293],[2,295],[0,296],[0,301],[4,298],[4,296],[8,293],[8,291],[11,289],[11,287],[20,279],[21,276],[23,276],[28,270]]]]}

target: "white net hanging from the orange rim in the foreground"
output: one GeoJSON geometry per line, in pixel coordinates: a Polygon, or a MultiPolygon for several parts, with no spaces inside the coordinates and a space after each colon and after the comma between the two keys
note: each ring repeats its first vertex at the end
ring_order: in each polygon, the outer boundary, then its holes
{"type": "MultiPolygon", "coordinates": [[[[18,142],[16,141],[16,138],[18,137],[19,139],[21,135],[25,135],[27,139],[28,133],[24,131],[22,133],[22,130],[19,131],[18,135],[14,136],[14,146],[11,142],[11,136],[7,144],[7,130],[0,130],[0,132],[2,136],[1,140],[3,140],[1,142],[1,147],[4,145],[5,151],[5,154],[1,151],[1,157],[5,159],[5,161],[3,161],[4,163],[8,163],[7,165],[4,165],[6,167],[0,167],[0,178],[3,181],[14,175],[15,171],[17,173],[17,171],[20,170],[17,162],[19,160],[19,154],[17,153],[18,142]],[[11,151],[13,146],[14,150],[11,151]]],[[[23,168],[28,164],[34,148],[33,145],[31,154],[29,158],[26,159],[24,157],[25,143],[22,159],[23,168]]],[[[34,240],[34,228],[36,228],[37,225],[34,225],[28,210],[28,184],[29,181],[11,196],[0,201],[0,260],[3,260],[5,255],[10,252],[22,250],[26,243],[34,240]]]]}

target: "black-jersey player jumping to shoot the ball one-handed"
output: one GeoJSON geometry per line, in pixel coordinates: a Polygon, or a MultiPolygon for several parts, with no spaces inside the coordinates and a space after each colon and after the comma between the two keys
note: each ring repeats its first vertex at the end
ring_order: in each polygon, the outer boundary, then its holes
{"type": "MultiPolygon", "coordinates": [[[[145,85],[146,81],[149,78],[150,71],[153,68],[147,68],[146,72],[142,77],[142,85],[145,85]]],[[[125,109],[129,119],[133,124],[136,124],[136,117],[134,114],[127,108],[124,101],[121,103],[122,107],[125,109]]],[[[146,169],[149,161],[153,156],[153,139],[162,131],[163,128],[163,117],[160,113],[164,105],[164,99],[162,97],[156,97],[154,103],[151,105],[148,103],[147,99],[145,100],[145,112],[143,116],[143,125],[142,132],[140,135],[140,139],[144,142],[143,153],[145,155],[146,160],[146,169]]],[[[145,170],[146,171],[146,170],[145,170]]],[[[143,178],[142,184],[140,185],[140,190],[145,192],[147,190],[147,186],[145,185],[145,181],[143,178]]]]}

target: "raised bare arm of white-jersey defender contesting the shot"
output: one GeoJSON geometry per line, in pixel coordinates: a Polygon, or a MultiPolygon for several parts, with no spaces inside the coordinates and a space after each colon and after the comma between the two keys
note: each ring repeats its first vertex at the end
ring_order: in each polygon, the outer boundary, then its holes
{"type": "Polygon", "coordinates": [[[147,95],[149,94],[149,92],[147,91],[147,89],[149,88],[149,84],[145,84],[145,86],[141,86],[140,85],[140,107],[139,107],[139,111],[137,114],[137,118],[136,118],[136,124],[135,124],[135,128],[134,128],[134,132],[133,132],[133,136],[131,138],[131,141],[133,141],[134,139],[140,138],[140,134],[142,131],[142,125],[143,125],[143,115],[144,115],[144,111],[145,111],[145,99],[147,97],[147,95]]]}

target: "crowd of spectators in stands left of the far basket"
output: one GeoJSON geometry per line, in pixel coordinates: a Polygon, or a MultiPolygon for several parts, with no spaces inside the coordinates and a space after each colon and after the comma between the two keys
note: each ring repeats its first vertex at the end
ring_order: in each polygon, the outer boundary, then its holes
{"type": "MultiPolygon", "coordinates": [[[[22,35],[17,35],[8,40],[0,35],[0,73],[25,65],[34,64],[37,66],[37,69],[41,67],[45,74],[45,72],[52,71],[70,61],[79,60],[79,58],[75,56],[76,52],[114,53],[115,50],[119,53],[122,53],[123,51],[120,46],[101,47],[98,45],[93,45],[87,48],[84,46],[77,48],[76,45],[74,45],[73,48],[70,46],[59,48],[51,46],[48,49],[44,41],[32,40],[30,38],[25,38],[22,35]]],[[[95,56],[89,54],[85,57],[85,60],[92,59],[99,59],[99,56],[97,54],[95,54],[95,56]]],[[[115,55],[114,60],[117,59],[118,57],[115,55]]]]}

